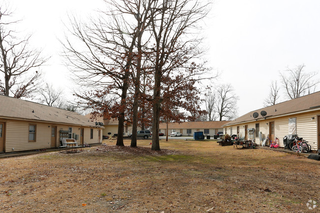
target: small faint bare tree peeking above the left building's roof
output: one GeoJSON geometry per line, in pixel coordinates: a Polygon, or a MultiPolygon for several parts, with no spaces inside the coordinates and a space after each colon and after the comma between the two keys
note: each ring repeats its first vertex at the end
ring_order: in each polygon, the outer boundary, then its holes
{"type": "Polygon", "coordinates": [[[63,91],[61,89],[55,90],[52,85],[46,83],[44,89],[42,89],[39,93],[41,95],[39,98],[41,103],[58,108],[63,107],[63,91]]]}

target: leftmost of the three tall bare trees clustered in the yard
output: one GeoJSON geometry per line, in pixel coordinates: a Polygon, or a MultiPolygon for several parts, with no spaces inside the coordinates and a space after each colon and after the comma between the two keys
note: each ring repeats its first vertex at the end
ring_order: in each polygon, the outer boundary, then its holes
{"type": "Polygon", "coordinates": [[[69,31],[77,41],[66,38],[64,56],[75,79],[87,92],[75,92],[87,107],[104,116],[117,118],[117,145],[124,146],[123,132],[126,121],[127,92],[130,86],[131,66],[139,30],[133,16],[133,0],[105,0],[106,12],[89,23],[71,20],[69,31]],[[131,17],[130,17],[131,15],[131,17]],[[79,45],[81,44],[81,45],[79,45]],[[108,101],[112,96],[112,101],[108,101]],[[117,96],[114,99],[114,96],[117,96]]]}

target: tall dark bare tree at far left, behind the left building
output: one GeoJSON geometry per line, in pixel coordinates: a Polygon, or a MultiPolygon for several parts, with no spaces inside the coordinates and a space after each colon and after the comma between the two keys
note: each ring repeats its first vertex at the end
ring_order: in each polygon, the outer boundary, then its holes
{"type": "Polygon", "coordinates": [[[11,21],[13,12],[8,5],[0,5],[0,94],[15,98],[31,97],[41,85],[39,67],[48,58],[40,56],[41,51],[29,48],[31,35],[17,38],[14,25],[20,20],[11,21]]]}

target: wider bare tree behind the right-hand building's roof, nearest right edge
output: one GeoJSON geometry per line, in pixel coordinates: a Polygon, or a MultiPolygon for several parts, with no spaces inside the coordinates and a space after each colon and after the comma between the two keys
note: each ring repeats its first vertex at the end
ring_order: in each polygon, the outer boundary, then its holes
{"type": "Polygon", "coordinates": [[[293,69],[287,67],[286,72],[280,73],[283,86],[290,99],[315,92],[316,87],[319,84],[318,79],[314,80],[318,73],[308,73],[304,70],[304,67],[304,64],[297,65],[293,69]]]}

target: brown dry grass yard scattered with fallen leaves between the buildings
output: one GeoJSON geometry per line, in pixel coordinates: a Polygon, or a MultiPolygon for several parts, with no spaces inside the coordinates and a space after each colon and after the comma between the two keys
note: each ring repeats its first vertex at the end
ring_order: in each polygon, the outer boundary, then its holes
{"type": "Polygon", "coordinates": [[[320,212],[320,161],[215,141],[153,152],[150,142],[2,158],[0,213],[320,212]]]}

